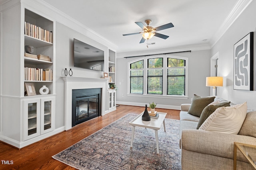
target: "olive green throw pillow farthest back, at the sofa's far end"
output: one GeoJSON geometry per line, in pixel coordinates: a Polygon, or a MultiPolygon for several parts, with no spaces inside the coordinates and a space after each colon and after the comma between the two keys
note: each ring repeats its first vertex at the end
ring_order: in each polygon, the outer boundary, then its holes
{"type": "Polygon", "coordinates": [[[192,104],[189,107],[188,113],[191,115],[200,117],[204,107],[212,103],[214,101],[214,98],[215,96],[202,98],[194,94],[194,97],[192,99],[192,104]]]}

